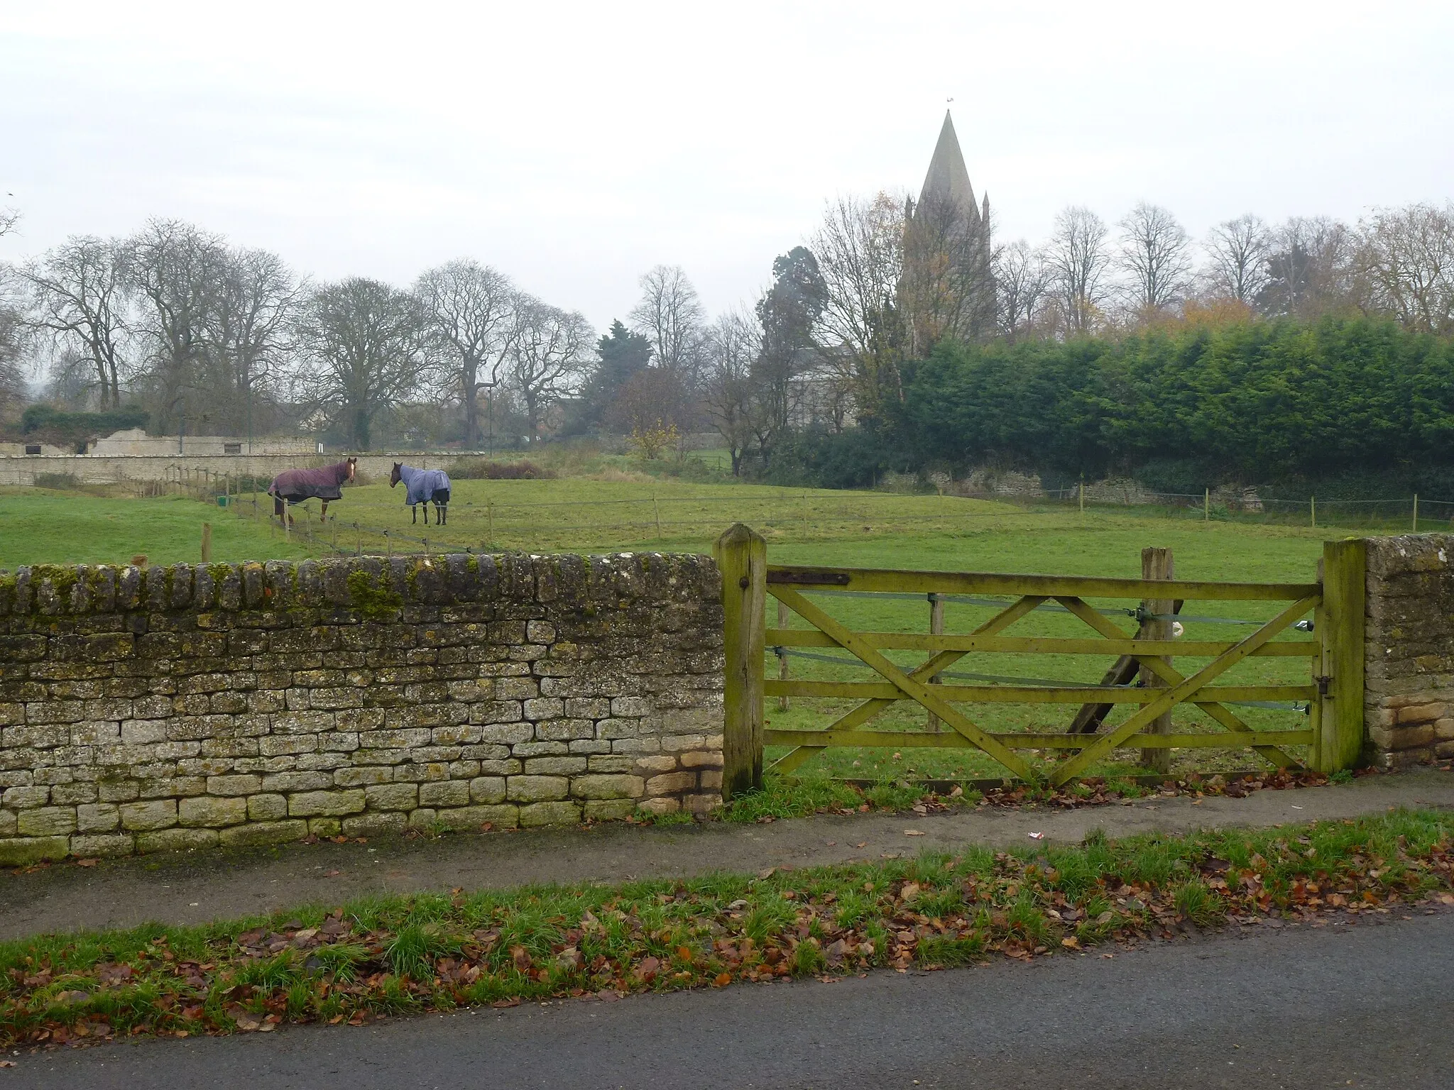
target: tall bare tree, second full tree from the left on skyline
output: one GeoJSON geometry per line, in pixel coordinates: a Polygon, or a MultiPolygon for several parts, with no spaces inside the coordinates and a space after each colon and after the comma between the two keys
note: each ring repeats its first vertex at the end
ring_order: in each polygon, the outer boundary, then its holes
{"type": "Polygon", "coordinates": [[[211,414],[220,360],[209,334],[227,244],[192,224],[153,219],[128,241],[128,282],[138,301],[135,330],[145,346],[142,385],[156,408],[156,426],[170,430],[189,408],[211,414]]]}

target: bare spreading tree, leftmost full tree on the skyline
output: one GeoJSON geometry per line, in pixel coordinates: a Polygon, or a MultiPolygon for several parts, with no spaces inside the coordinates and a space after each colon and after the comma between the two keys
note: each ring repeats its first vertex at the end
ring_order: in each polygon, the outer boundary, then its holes
{"type": "Polygon", "coordinates": [[[86,359],[102,408],[121,405],[128,374],[126,250],[115,240],[76,235],[26,263],[29,323],[47,331],[60,353],[86,359]]]}

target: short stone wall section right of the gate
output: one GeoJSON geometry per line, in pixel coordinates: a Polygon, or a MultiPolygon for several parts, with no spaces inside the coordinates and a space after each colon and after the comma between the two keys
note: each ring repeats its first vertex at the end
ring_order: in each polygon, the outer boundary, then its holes
{"type": "Polygon", "coordinates": [[[1365,623],[1370,763],[1454,757],[1454,535],[1370,538],[1365,623]]]}

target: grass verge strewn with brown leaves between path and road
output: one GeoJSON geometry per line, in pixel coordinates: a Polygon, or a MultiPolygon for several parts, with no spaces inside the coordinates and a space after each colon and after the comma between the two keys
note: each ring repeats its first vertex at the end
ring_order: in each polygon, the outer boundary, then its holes
{"type": "Polygon", "coordinates": [[[464,1004],[1032,959],[1281,916],[1454,904],[1454,814],[621,885],[372,897],[0,946],[0,1042],[359,1025],[464,1004]]]}

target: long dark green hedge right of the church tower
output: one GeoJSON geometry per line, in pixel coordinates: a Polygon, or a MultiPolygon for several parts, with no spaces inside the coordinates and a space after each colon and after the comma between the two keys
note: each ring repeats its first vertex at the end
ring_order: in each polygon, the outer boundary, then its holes
{"type": "Polygon", "coordinates": [[[910,365],[897,445],[1166,491],[1454,467],[1454,344],[1325,320],[965,346],[910,365]]]}

